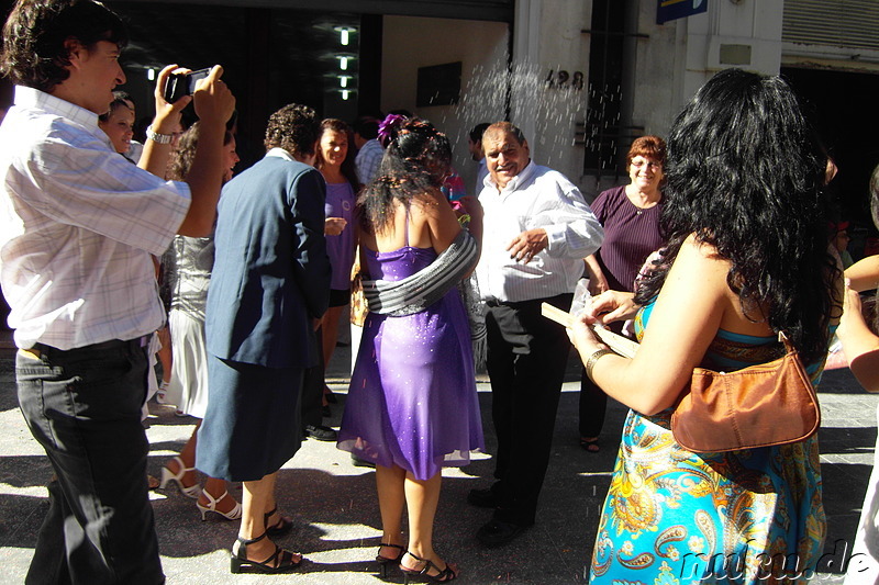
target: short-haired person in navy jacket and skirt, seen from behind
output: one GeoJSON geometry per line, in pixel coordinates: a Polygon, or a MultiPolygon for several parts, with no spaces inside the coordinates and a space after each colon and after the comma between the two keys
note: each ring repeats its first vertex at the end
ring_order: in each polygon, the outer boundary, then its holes
{"type": "Polygon", "coordinates": [[[318,363],[313,330],[330,297],[326,185],[311,167],[318,136],[311,108],[281,108],[269,117],[265,158],[220,200],[205,318],[210,401],[196,463],[244,482],[234,573],[301,561],[265,537],[292,526],[277,510],[275,475],[302,441],[302,375],[318,363]]]}

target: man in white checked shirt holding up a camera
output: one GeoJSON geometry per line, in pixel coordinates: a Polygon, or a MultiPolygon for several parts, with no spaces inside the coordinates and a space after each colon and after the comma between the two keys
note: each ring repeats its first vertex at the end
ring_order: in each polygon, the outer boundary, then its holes
{"type": "MultiPolygon", "coordinates": [[[[0,68],[15,104],[0,126],[0,284],[15,329],[19,403],[55,471],[27,583],[163,583],[141,426],[146,339],[165,319],[151,255],[207,235],[235,99],[214,68],[194,94],[202,131],[187,183],[166,182],[156,119],[141,166],[98,127],[125,75],[120,18],[92,0],[19,0],[0,68]]],[[[163,88],[173,67],[158,81],[163,88]]]]}

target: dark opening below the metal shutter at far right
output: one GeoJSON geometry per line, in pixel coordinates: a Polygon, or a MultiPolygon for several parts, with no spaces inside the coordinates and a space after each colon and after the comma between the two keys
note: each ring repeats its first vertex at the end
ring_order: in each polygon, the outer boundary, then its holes
{"type": "MultiPolygon", "coordinates": [[[[839,218],[856,230],[876,235],[869,211],[869,180],[879,165],[879,142],[869,128],[879,94],[879,75],[786,67],[781,75],[803,99],[839,171],[831,183],[839,218]]],[[[849,234],[855,236],[857,234],[849,234]]],[[[863,254],[856,238],[849,250],[863,254]],[[857,249],[860,248],[860,249],[857,249]]]]}

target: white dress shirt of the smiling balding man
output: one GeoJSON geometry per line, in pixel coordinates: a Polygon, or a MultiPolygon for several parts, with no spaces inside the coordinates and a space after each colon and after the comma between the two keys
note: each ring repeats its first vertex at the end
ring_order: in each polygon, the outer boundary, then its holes
{"type": "Polygon", "coordinates": [[[583,258],[604,237],[580,190],[564,175],[528,165],[498,192],[489,176],[479,194],[485,209],[482,256],[476,269],[483,300],[521,302],[574,292],[583,258]],[[507,247],[522,232],[542,227],[548,245],[530,262],[507,247]]]}

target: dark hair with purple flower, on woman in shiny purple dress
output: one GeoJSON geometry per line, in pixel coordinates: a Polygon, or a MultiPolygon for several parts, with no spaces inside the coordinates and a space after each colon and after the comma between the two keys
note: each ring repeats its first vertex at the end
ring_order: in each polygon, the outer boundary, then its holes
{"type": "Polygon", "coordinates": [[[448,138],[430,122],[401,120],[389,128],[378,176],[357,201],[364,229],[375,234],[386,228],[393,220],[394,200],[409,206],[412,199],[438,191],[450,165],[448,138]]]}

